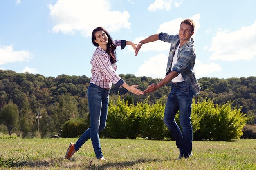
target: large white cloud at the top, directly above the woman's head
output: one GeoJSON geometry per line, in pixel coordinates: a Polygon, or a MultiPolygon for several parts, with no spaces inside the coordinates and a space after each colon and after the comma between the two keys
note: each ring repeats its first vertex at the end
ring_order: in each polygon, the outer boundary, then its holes
{"type": "Polygon", "coordinates": [[[128,11],[111,11],[109,0],[58,0],[48,7],[55,22],[52,31],[56,33],[74,34],[80,31],[83,36],[90,37],[97,26],[104,27],[108,32],[130,29],[128,11]]]}

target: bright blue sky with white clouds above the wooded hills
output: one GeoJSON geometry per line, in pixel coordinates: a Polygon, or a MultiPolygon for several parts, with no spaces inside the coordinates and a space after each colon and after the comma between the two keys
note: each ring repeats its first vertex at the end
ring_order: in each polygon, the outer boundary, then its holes
{"type": "MultiPolygon", "coordinates": [[[[255,0],[0,0],[0,69],[91,77],[92,30],[139,43],[195,22],[196,77],[256,76],[255,0]]],[[[117,74],[164,78],[170,44],[117,47],[117,74]]]]}

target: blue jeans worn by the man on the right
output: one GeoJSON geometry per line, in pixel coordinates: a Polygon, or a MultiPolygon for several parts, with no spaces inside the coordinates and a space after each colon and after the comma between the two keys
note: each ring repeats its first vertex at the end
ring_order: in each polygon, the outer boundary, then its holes
{"type": "Polygon", "coordinates": [[[192,151],[193,130],[191,126],[191,106],[193,92],[186,82],[172,83],[164,110],[164,124],[168,127],[176,141],[182,157],[188,157],[192,151]],[[175,121],[177,111],[180,111],[180,127],[175,121]]]}

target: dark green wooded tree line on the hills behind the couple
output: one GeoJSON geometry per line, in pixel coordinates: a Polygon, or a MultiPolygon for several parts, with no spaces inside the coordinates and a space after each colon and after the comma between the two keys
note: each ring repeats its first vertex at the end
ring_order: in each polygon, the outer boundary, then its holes
{"type": "MultiPolygon", "coordinates": [[[[153,82],[161,79],[136,77],[132,74],[120,74],[128,84],[138,84],[144,90],[153,82]]],[[[198,79],[202,87],[195,102],[212,99],[214,104],[222,106],[232,101],[232,107],[241,108],[241,112],[249,117],[256,115],[256,77],[241,78],[209,78],[198,79]]],[[[16,132],[22,137],[30,137],[38,130],[40,135],[50,137],[58,134],[66,121],[73,118],[89,120],[87,88],[90,77],[59,75],[44,77],[40,74],[16,73],[11,70],[0,70],[0,132],[16,132]],[[36,118],[40,113],[41,119],[36,118]]],[[[155,104],[171,90],[166,84],[157,91],[147,95],[134,95],[124,88],[112,85],[110,101],[117,101],[120,96],[128,105],[138,102],[155,104]],[[148,97],[149,96],[149,97],[148,97]]],[[[255,124],[251,119],[247,124],[255,124]]]]}

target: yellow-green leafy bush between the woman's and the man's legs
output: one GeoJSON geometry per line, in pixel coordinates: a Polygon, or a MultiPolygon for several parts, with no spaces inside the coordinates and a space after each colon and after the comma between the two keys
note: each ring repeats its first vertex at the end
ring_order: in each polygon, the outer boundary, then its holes
{"type": "Polygon", "coordinates": [[[162,121],[165,104],[162,104],[162,99],[151,106],[147,101],[137,102],[136,106],[128,106],[128,102],[121,100],[120,96],[117,105],[110,101],[104,137],[164,139],[168,135],[168,129],[162,121]]]}

